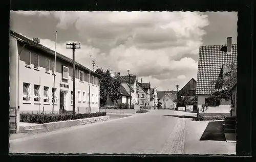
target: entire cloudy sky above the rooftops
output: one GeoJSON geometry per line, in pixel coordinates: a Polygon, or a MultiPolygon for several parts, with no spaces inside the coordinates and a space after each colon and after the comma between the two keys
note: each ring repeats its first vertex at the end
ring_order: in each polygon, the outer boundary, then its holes
{"type": "Polygon", "coordinates": [[[10,29],[76,62],[136,75],[158,91],[197,80],[200,45],[237,43],[237,12],[11,11],[10,29]],[[91,62],[89,57],[91,55],[91,62]]]}

